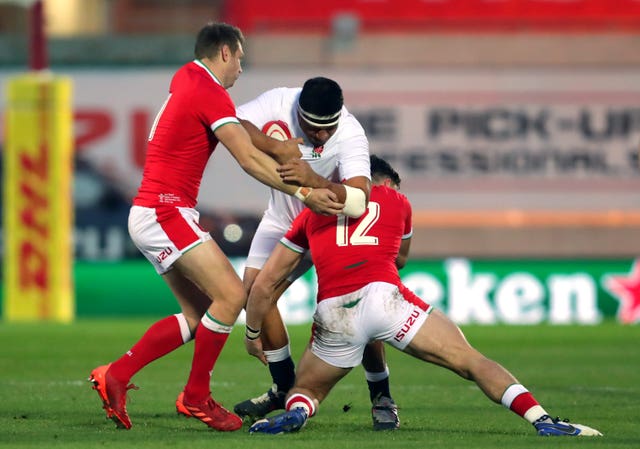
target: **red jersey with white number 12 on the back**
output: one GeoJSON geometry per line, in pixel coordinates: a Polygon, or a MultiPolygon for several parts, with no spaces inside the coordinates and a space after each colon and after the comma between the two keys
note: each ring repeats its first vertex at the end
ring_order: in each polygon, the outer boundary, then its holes
{"type": "Polygon", "coordinates": [[[411,205],[398,191],[373,186],[367,211],[358,219],[309,214],[306,236],[318,273],[318,300],[383,281],[400,285],[395,261],[410,235],[411,205]]]}

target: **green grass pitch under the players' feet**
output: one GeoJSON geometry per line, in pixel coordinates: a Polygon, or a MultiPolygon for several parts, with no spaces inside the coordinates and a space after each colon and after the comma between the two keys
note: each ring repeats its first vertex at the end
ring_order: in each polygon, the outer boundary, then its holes
{"type": "MultiPolygon", "coordinates": [[[[301,432],[210,431],[175,413],[193,345],[149,365],[129,394],[129,431],[106,420],[86,378],[114,360],[154,319],[79,320],[71,325],[0,324],[0,447],[11,448],[533,448],[640,447],[640,326],[466,326],[470,342],[499,361],[554,415],[595,427],[602,438],[541,438],[473,383],[388,347],[401,428],[371,429],[363,372],[340,382],[301,432]],[[347,407],[345,407],[347,406],[347,407]],[[348,410],[348,411],[345,411],[348,410]]],[[[290,328],[297,358],[308,326],[290,328]]],[[[268,370],[232,333],[213,375],[228,408],[266,391],[268,370]]]]}

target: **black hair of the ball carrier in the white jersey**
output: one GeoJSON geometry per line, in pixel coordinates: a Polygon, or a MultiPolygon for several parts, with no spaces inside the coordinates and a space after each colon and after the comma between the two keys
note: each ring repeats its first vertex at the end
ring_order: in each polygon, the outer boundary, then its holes
{"type": "Polygon", "coordinates": [[[340,112],[344,99],[342,89],[334,80],[318,76],[308,79],[302,86],[300,108],[320,117],[330,117],[340,112]]]}

